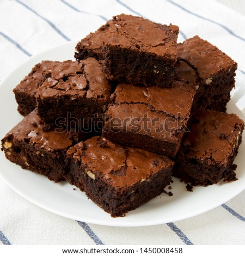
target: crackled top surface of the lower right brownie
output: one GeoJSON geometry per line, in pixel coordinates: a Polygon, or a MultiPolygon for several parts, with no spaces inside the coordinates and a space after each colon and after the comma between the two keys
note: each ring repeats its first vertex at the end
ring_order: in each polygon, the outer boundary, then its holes
{"type": "Polygon", "coordinates": [[[226,161],[237,147],[244,122],[236,114],[194,109],[191,132],[183,141],[188,157],[226,161]]]}

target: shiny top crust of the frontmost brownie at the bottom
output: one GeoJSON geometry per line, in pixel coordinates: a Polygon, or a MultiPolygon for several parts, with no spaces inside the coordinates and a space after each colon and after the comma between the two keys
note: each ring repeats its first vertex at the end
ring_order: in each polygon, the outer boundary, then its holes
{"type": "Polygon", "coordinates": [[[105,137],[93,137],[78,143],[68,150],[68,155],[82,163],[91,179],[97,180],[100,176],[118,188],[147,181],[160,169],[174,164],[167,156],[124,147],[105,137]]]}

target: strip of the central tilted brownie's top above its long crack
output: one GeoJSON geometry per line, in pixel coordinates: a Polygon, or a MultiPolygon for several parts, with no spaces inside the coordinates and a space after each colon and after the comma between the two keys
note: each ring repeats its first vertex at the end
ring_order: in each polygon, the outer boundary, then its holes
{"type": "Polygon", "coordinates": [[[151,111],[165,114],[168,117],[185,119],[191,111],[194,93],[192,87],[179,81],[174,81],[172,88],[120,83],[111,99],[113,105],[145,105],[151,111]]]}

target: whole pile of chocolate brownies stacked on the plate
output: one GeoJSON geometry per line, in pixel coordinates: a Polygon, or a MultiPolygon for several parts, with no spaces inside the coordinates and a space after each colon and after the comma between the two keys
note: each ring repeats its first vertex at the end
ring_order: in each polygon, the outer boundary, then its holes
{"type": "Polygon", "coordinates": [[[237,64],[179,28],[114,16],[42,61],[14,89],[24,119],[2,139],[11,162],[68,180],[111,216],[164,192],[235,181],[244,122],[225,113],[237,64]],[[177,186],[178,184],[174,184],[177,186]]]}

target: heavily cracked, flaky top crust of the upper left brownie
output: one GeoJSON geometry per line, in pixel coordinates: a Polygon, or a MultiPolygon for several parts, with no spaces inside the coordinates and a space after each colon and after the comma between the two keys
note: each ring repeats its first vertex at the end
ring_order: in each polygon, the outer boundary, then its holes
{"type": "Polygon", "coordinates": [[[111,84],[94,58],[80,63],[66,60],[48,71],[46,77],[37,90],[40,97],[71,95],[106,100],[111,96],[111,84]]]}

